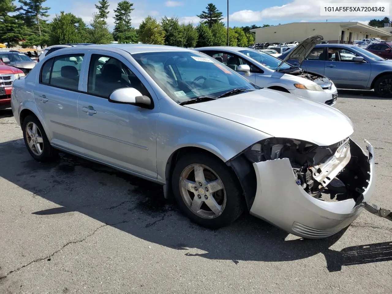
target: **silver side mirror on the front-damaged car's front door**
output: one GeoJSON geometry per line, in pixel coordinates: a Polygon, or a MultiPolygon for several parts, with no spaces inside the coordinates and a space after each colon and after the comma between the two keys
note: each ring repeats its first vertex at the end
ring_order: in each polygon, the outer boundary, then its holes
{"type": "Polygon", "coordinates": [[[151,98],[142,95],[142,93],[135,88],[121,88],[113,91],[109,96],[109,102],[132,104],[145,108],[152,107],[151,98]]]}

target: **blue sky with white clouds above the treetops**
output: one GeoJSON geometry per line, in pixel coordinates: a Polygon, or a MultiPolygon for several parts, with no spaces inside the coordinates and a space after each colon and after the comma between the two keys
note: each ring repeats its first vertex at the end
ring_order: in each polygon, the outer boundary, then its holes
{"type": "MultiPolygon", "coordinates": [[[[379,0],[361,0],[370,3],[379,0]]],[[[108,24],[113,28],[113,9],[116,8],[117,0],[110,0],[110,14],[108,24]]],[[[227,0],[133,0],[134,11],[132,12],[132,25],[138,27],[140,22],[148,16],[154,16],[158,20],[163,16],[177,16],[181,22],[198,22],[196,15],[200,14],[208,3],[212,2],[223,12],[227,19],[227,0]]],[[[325,21],[325,16],[320,16],[320,4],[326,3],[353,3],[354,0],[229,0],[229,25],[263,25],[263,24],[285,24],[288,22],[325,21]]],[[[392,0],[382,2],[390,3],[392,0]]],[[[53,18],[60,11],[70,12],[80,16],[87,22],[96,9],[94,4],[98,0],[47,0],[44,5],[51,7],[49,18],[53,18]]],[[[15,0],[17,4],[17,0],[15,0]]],[[[380,16],[347,16],[345,18],[328,16],[328,21],[360,21],[367,23],[372,18],[380,16]]]]}

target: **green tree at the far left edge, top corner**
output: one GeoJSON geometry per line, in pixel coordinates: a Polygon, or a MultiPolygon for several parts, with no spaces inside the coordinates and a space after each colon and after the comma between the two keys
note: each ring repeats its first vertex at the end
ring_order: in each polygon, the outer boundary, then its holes
{"type": "Polygon", "coordinates": [[[19,44],[24,38],[26,27],[23,22],[10,16],[16,12],[14,0],[0,1],[0,43],[7,43],[7,47],[19,44]]]}

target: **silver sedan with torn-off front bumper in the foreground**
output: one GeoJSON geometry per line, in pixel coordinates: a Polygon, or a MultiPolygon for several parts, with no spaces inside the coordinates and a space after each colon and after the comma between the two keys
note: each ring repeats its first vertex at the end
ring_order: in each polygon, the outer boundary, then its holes
{"type": "Polygon", "coordinates": [[[190,49],[65,48],[14,82],[11,104],[36,160],[61,150],[160,183],[208,228],[247,210],[325,238],[350,225],[374,190],[373,149],[350,139],[347,116],[260,89],[190,49]]]}

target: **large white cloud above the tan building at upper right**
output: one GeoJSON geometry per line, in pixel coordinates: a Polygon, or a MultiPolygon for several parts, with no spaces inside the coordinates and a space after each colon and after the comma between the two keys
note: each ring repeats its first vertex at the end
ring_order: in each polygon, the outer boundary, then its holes
{"type": "MultiPolygon", "coordinates": [[[[278,20],[281,23],[285,19],[303,19],[303,20],[325,20],[341,19],[342,16],[320,16],[320,6],[328,3],[353,3],[353,0],[291,0],[289,3],[281,6],[272,6],[261,11],[241,10],[230,15],[230,20],[237,22],[260,22],[261,20],[278,20]]],[[[363,1],[365,2],[365,1],[363,1]]],[[[377,1],[374,1],[377,3],[377,1]]],[[[392,0],[378,1],[389,3],[392,6],[392,0]]],[[[365,13],[364,13],[365,16],[365,13]]],[[[364,21],[361,21],[364,22],[364,21]]]]}

